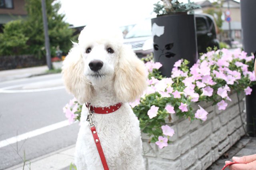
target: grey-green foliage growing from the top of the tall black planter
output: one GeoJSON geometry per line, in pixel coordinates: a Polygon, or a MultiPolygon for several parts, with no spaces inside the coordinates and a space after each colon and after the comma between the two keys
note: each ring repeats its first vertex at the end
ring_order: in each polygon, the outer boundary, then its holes
{"type": "Polygon", "coordinates": [[[158,2],[157,4],[154,4],[154,10],[158,15],[161,14],[176,14],[180,12],[192,12],[192,10],[201,8],[200,5],[195,4],[194,2],[190,2],[188,0],[188,3],[184,4],[183,2],[180,3],[178,0],[162,0],[164,1],[163,4],[160,4],[158,2]]]}

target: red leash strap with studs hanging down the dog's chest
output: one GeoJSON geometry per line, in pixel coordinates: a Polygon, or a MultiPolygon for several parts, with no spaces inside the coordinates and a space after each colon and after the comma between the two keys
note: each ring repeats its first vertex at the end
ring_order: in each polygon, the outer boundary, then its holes
{"type": "Polygon", "coordinates": [[[101,159],[101,162],[102,162],[102,165],[103,165],[103,168],[104,170],[109,170],[108,169],[108,164],[107,164],[107,161],[106,161],[106,158],[104,156],[104,152],[102,150],[102,147],[101,147],[101,144],[100,144],[100,139],[98,137],[98,134],[97,134],[97,131],[96,131],[96,128],[95,126],[93,127],[90,127],[91,131],[92,131],[92,136],[94,138],[94,142],[96,144],[96,147],[98,149],[98,152],[100,154],[100,159],[101,159]]]}

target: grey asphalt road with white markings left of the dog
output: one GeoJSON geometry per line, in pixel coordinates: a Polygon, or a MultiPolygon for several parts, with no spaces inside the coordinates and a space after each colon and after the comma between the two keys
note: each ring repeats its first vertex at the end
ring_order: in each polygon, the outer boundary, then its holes
{"type": "Polygon", "coordinates": [[[24,153],[31,160],[75,144],[79,125],[65,125],[62,112],[72,98],[60,74],[0,83],[0,170],[23,162],[24,153]]]}

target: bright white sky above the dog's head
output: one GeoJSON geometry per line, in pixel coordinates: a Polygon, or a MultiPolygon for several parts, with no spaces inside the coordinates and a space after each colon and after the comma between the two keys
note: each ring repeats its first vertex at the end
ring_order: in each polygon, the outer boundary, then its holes
{"type": "MultiPolygon", "coordinates": [[[[145,18],[154,18],[153,4],[160,0],[58,0],[65,21],[74,26],[85,26],[104,21],[117,26],[136,24],[145,18]]],[[[191,0],[198,2],[202,0],[191,0]]],[[[210,0],[214,1],[214,0],[210,0]]],[[[240,0],[237,0],[240,1],[240,0]]],[[[180,0],[179,2],[187,2],[180,0]]]]}

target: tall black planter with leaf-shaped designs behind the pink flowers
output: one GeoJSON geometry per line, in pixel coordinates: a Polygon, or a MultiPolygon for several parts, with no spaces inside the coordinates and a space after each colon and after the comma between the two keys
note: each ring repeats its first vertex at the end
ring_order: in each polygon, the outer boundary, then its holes
{"type": "Polygon", "coordinates": [[[189,66],[196,62],[198,53],[194,15],[159,16],[151,19],[151,23],[154,36],[154,61],[163,65],[160,68],[163,75],[170,77],[174,63],[181,58],[190,61],[189,66]]]}

